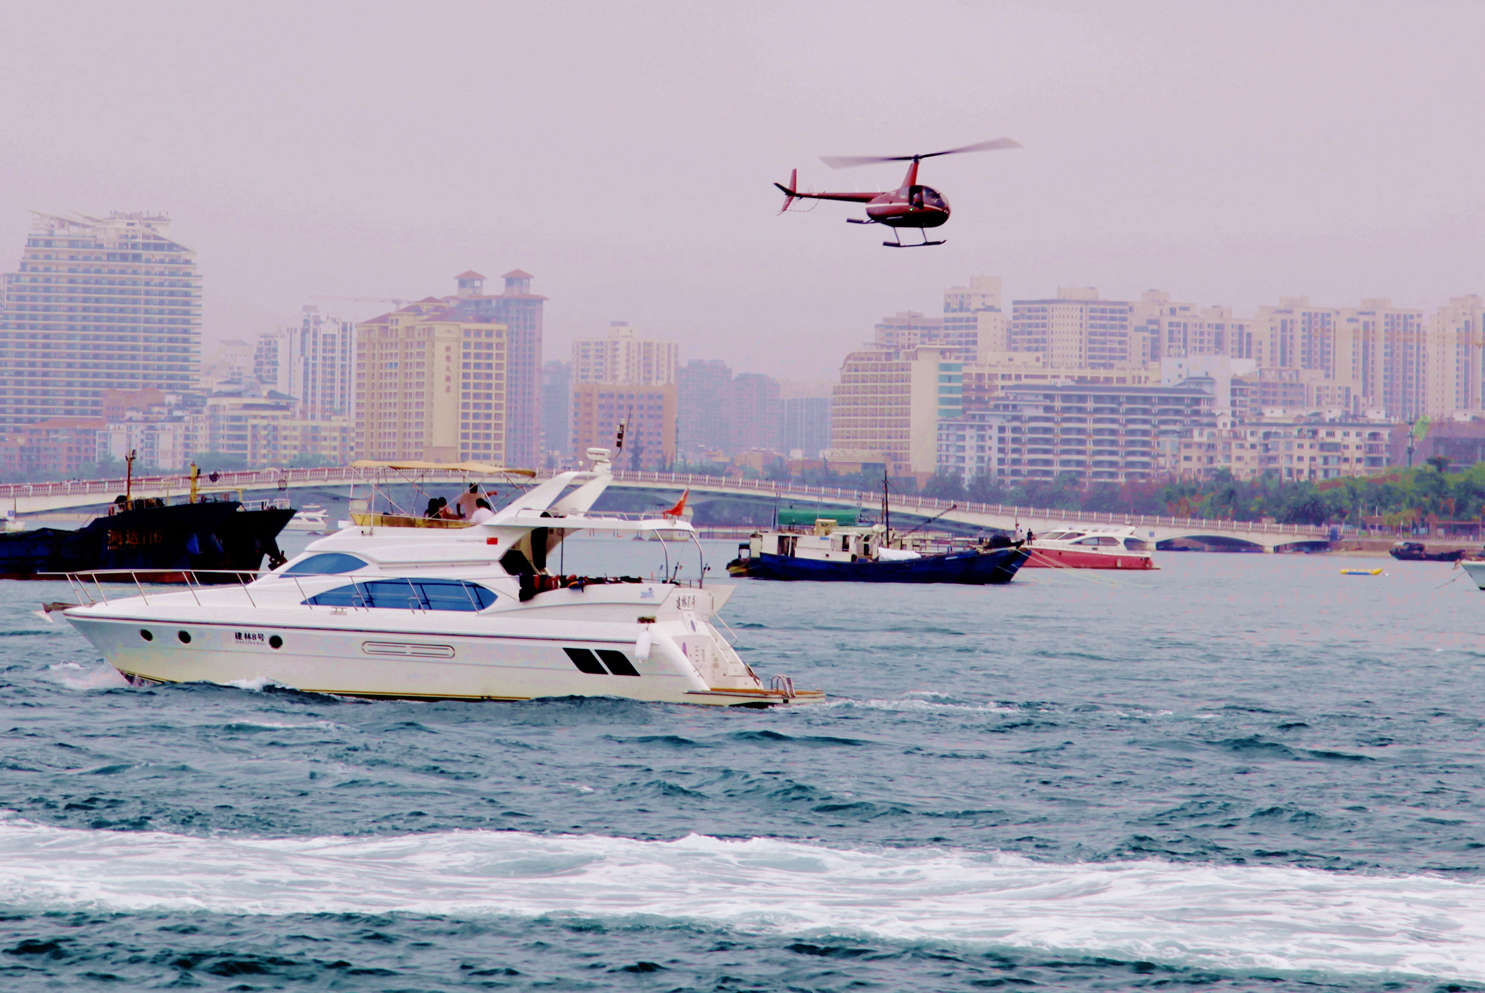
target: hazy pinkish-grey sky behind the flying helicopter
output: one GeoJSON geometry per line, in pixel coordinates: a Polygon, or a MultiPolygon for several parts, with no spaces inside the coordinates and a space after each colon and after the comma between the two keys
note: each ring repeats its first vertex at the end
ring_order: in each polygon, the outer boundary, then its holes
{"type": "Polygon", "coordinates": [[[974,273],[1432,307],[1485,292],[1482,45],[1479,1],[15,4],[0,264],[33,208],[166,211],[208,340],[521,267],[548,358],[627,319],[794,378],[974,273]],[[999,135],[925,163],[941,248],[777,215],[999,135]]]}

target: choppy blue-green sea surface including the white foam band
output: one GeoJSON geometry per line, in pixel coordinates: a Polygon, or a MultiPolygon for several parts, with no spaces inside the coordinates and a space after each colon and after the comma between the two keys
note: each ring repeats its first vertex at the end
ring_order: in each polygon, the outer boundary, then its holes
{"type": "Polygon", "coordinates": [[[1485,989],[1485,594],[1158,561],[741,582],[775,711],[131,689],[0,583],[0,989],[1485,989]]]}

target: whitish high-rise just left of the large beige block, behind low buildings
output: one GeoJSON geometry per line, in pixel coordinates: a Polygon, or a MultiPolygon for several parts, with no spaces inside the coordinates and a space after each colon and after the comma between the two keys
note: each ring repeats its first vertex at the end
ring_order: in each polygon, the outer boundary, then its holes
{"type": "Polygon", "coordinates": [[[294,398],[294,417],[349,417],[355,393],[355,325],[304,307],[297,327],[264,331],[254,349],[254,377],[294,398]]]}

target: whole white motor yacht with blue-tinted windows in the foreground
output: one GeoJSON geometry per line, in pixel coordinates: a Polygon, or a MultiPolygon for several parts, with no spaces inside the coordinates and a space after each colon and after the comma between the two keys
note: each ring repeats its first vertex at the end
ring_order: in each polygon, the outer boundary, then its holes
{"type": "Polygon", "coordinates": [[[606,448],[590,448],[588,457],[591,472],[558,473],[480,524],[355,514],[352,527],[236,586],[140,586],[114,598],[99,580],[128,576],[74,573],[83,603],[64,616],[137,684],[266,680],[398,699],[625,696],[744,707],[823,699],[820,690],[794,690],[787,677],[765,684],[748,668],[713,626],[732,588],[704,585],[704,570],[676,582],[549,568],[575,531],[695,537],[682,520],[588,514],[612,479],[606,448]]]}

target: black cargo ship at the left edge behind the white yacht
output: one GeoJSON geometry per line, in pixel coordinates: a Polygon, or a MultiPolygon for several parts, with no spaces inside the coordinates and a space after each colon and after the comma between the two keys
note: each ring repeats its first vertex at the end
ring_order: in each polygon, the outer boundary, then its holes
{"type": "Polygon", "coordinates": [[[141,582],[184,582],[189,570],[206,570],[198,582],[238,582],[235,571],[258,571],[264,555],[270,566],[284,560],[278,534],[293,517],[291,508],[248,509],[241,500],[120,497],[77,530],[0,534],[0,579],[126,568],[138,570],[141,582]]]}

